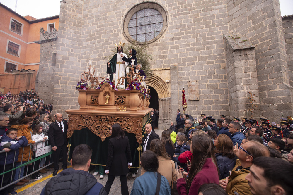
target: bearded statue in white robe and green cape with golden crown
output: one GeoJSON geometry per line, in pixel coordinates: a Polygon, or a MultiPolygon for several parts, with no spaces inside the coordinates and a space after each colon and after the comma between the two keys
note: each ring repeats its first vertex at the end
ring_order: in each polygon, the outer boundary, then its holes
{"type": "MultiPolygon", "coordinates": [[[[120,55],[126,56],[123,53],[123,47],[117,47],[117,54],[113,56],[113,58],[107,62],[107,74],[110,74],[110,80],[113,80],[113,73],[115,73],[115,84],[117,84],[118,78],[124,76],[125,67],[128,66],[128,62],[124,62],[120,55]]],[[[117,87],[125,88],[125,85],[118,85],[117,87]]]]}

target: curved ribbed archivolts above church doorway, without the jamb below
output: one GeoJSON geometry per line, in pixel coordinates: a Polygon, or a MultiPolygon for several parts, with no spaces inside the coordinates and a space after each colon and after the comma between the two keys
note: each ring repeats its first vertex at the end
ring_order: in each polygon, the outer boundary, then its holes
{"type": "Polygon", "coordinates": [[[159,99],[171,97],[168,85],[161,77],[155,74],[151,74],[151,77],[146,79],[147,85],[156,89],[159,99]]]}

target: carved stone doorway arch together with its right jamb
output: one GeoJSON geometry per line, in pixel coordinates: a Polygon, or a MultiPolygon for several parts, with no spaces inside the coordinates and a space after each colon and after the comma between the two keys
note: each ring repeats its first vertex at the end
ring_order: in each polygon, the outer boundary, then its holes
{"type": "Polygon", "coordinates": [[[158,93],[159,101],[159,129],[168,129],[171,122],[171,92],[168,84],[158,75],[152,74],[146,79],[147,85],[158,93]]]}

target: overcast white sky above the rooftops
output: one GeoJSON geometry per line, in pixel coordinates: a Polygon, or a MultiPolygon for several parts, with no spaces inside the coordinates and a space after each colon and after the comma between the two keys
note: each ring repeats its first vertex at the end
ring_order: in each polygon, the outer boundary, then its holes
{"type": "MultiPolygon", "coordinates": [[[[37,19],[59,15],[61,0],[17,0],[16,12],[22,16],[30,15],[37,19]]],[[[281,15],[293,14],[293,0],[279,0],[281,15]]],[[[16,0],[0,0],[2,4],[15,11],[16,0]]]]}

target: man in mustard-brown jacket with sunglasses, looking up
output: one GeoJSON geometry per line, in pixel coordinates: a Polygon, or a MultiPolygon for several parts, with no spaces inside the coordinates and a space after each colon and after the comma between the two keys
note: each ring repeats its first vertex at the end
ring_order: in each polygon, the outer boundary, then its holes
{"type": "Polygon", "coordinates": [[[219,181],[220,186],[228,194],[251,194],[245,177],[250,173],[252,161],[259,156],[270,156],[270,152],[263,144],[253,140],[244,143],[239,149],[237,146],[234,146],[234,153],[239,159],[237,159],[231,175],[219,181]]]}

